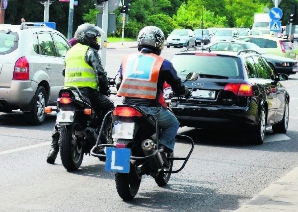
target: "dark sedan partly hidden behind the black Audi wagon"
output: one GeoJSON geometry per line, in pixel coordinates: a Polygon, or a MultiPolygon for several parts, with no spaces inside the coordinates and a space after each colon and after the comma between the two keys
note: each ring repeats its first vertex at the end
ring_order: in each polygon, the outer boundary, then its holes
{"type": "Polygon", "coordinates": [[[250,42],[239,41],[239,40],[218,41],[212,44],[208,44],[204,46],[204,48],[210,49],[212,51],[214,50],[240,51],[244,49],[254,50],[266,59],[268,64],[276,73],[285,73],[287,75],[290,75],[290,74],[296,74],[298,71],[297,60],[268,54],[256,44],[250,43],[250,42]]]}

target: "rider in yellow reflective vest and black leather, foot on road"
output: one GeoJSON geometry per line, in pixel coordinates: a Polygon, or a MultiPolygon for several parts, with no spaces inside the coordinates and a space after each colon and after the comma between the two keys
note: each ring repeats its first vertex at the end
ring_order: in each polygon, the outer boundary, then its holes
{"type": "MultiPolygon", "coordinates": [[[[78,42],[65,57],[65,87],[78,87],[82,95],[87,96],[96,113],[101,112],[100,123],[108,111],[115,108],[109,96],[107,72],[101,65],[98,50],[100,45],[97,38],[105,32],[98,26],[84,23],[78,26],[74,37],[78,42]]],[[[101,142],[107,142],[108,126],[112,123],[112,116],[106,119],[101,142]]],[[[99,126],[100,127],[100,126],[99,126]]],[[[54,163],[59,151],[60,126],[55,125],[52,135],[51,149],[47,157],[48,163],[54,163]]]]}

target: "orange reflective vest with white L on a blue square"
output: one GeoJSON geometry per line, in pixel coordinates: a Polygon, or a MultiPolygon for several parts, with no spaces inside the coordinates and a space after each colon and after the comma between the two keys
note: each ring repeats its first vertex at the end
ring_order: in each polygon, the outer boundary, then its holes
{"type": "Polygon", "coordinates": [[[124,57],[122,82],[117,96],[155,99],[163,60],[155,54],[136,53],[124,57]]]}

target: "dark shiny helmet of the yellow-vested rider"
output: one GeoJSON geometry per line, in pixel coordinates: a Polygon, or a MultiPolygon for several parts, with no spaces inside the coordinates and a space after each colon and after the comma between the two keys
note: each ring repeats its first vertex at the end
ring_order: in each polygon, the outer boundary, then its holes
{"type": "Polygon", "coordinates": [[[97,38],[104,34],[105,32],[100,27],[90,23],[83,23],[77,27],[74,38],[80,44],[99,50],[100,45],[97,43],[97,38]]]}

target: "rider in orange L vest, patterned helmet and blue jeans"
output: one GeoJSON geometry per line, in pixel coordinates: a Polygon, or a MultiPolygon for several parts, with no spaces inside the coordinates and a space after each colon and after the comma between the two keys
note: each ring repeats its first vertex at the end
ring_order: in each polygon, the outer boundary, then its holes
{"type": "Polygon", "coordinates": [[[164,166],[169,163],[165,153],[172,152],[179,121],[166,108],[163,84],[171,85],[175,95],[189,98],[191,93],[177,75],[171,62],[160,57],[164,47],[164,34],[156,26],[144,27],[138,35],[138,53],[125,56],[118,72],[117,96],[123,103],[137,105],[154,115],[162,129],[159,148],[163,149],[164,166]]]}

